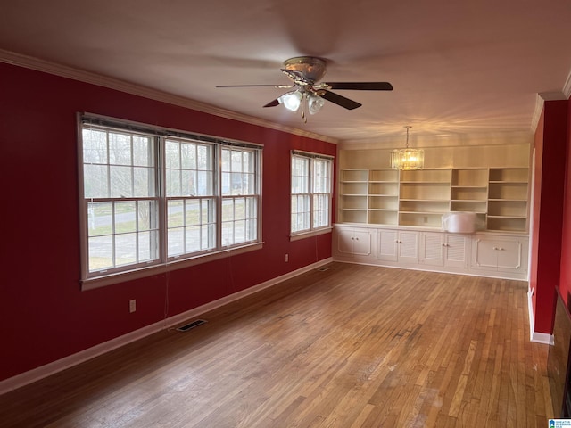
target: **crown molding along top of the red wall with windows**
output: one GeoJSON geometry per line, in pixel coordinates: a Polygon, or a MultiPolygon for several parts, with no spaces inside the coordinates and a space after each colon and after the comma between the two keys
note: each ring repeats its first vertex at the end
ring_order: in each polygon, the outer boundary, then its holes
{"type": "Polygon", "coordinates": [[[209,113],[224,119],[237,120],[250,125],[283,131],[295,136],[304,136],[332,144],[339,143],[339,140],[329,136],[321,136],[299,128],[286,127],[285,125],[271,122],[269,120],[255,118],[236,111],[221,109],[208,103],[194,101],[184,96],[169,94],[150,87],[139,86],[117,78],[110,78],[87,70],[75,69],[73,67],[41,60],[21,53],[14,53],[0,49],[0,62],[5,62],[7,64],[12,64],[30,70],[42,71],[62,78],[70,78],[96,86],[107,87],[130,95],[143,96],[155,101],[178,105],[179,107],[185,107],[194,111],[202,111],[203,113],[209,113]]]}

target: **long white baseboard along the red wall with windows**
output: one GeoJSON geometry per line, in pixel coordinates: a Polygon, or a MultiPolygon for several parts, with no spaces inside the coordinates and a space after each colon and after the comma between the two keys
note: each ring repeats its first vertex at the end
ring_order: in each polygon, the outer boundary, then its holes
{"type": "Polygon", "coordinates": [[[305,266],[303,268],[294,270],[293,272],[289,272],[282,276],[277,276],[276,278],[272,278],[264,283],[254,285],[241,292],[235,292],[234,294],[230,294],[219,300],[211,301],[209,303],[204,304],[203,306],[199,306],[198,308],[187,310],[186,312],[166,318],[152,325],[146,325],[145,327],[140,328],[134,332],[124,334],[120,337],[116,337],[111,341],[99,343],[98,345],[95,345],[92,348],[88,348],[87,350],[81,350],[68,357],[64,357],[54,362],[48,363],[45,366],[39,366],[37,368],[29,370],[28,372],[17,374],[8,379],[4,379],[4,381],[0,382],[0,395],[8,391],[20,388],[29,383],[39,381],[40,379],[43,379],[49,376],[50,374],[61,372],[66,368],[70,368],[71,366],[77,366],[78,364],[83,363],[88,359],[95,358],[99,355],[104,354],[105,352],[109,352],[110,350],[115,350],[117,348],[120,348],[121,346],[124,346],[130,342],[135,342],[150,334],[157,333],[160,332],[161,330],[170,328],[174,325],[181,324],[189,320],[190,318],[198,317],[212,309],[217,309],[233,301],[243,299],[244,297],[249,296],[255,292],[261,292],[261,290],[282,283],[288,279],[293,278],[294,276],[299,276],[306,272],[309,272],[310,270],[319,268],[320,266],[327,265],[327,263],[330,263],[331,261],[333,261],[332,258],[320,260],[309,266],[305,266]]]}

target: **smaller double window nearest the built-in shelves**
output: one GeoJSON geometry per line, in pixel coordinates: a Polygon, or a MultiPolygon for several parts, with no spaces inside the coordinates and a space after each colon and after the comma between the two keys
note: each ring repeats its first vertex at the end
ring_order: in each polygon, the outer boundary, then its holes
{"type": "Polygon", "coordinates": [[[331,226],[332,158],[292,152],[292,235],[331,226]]]}

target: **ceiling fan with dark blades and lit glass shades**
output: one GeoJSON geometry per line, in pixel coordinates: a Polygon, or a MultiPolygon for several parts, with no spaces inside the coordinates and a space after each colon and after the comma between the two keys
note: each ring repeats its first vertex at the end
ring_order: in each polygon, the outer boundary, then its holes
{"type": "MultiPolygon", "coordinates": [[[[264,107],[275,107],[279,104],[284,104],[286,109],[298,111],[300,106],[305,103],[310,114],[315,114],[321,109],[324,104],[323,100],[340,105],[347,110],[353,110],[362,105],[331,92],[331,89],[352,91],[393,90],[393,85],[388,82],[319,82],[325,76],[326,69],[326,61],[321,58],[297,56],[285,60],[284,68],[281,69],[288,78],[292,79],[293,85],[219,85],[216,87],[273,86],[279,89],[292,89],[270,101],[264,107]]],[[[304,109],[302,109],[302,118],[307,121],[304,109]]]]}

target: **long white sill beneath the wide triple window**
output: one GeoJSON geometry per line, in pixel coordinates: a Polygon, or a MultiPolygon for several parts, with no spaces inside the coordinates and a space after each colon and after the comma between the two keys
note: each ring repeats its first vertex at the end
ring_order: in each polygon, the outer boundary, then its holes
{"type": "Polygon", "coordinates": [[[210,254],[203,254],[193,257],[192,259],[173,260],[166,264],[153,265],[148,268],[139,268],[137,270],[130,270],[127,272],[120,272],[109,276],[98,276],[96,278],[88,278],[81,281],[81,291],[93,290],[95,288],[105,287],[107,285],[125,283],[146,276],[153,276],[170,272],[182,268],[189,268],[191,266],[200,265],[209,261],[225,259],[236,254],[243,254],[244,252],[261,250],[263,243],[251,243],[242,247],[229,248],[224,251],[217,251],[210,254]]]}

